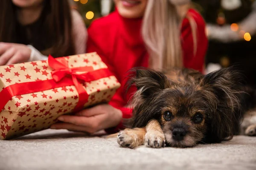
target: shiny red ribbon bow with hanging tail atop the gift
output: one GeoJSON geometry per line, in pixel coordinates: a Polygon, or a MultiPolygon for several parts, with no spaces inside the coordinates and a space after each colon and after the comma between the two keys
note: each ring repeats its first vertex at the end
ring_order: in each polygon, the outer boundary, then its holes
{"type": "Polygon", "coordinates": [[[84,103],[88,101],[89,95],[85,91],[83,85],[79,83],[78,79],[83,80],[84,82],[87,80],[87,77],[85,74],[79,74],[79,72],[89,72],[93,71],[92,66],[85,66],[85,67],[79,67],[79,68],[69,68],[67,60],[65,58],[58,58],[55,59],[51,55],[48,57],[48,64],[49,66],[54,69],[52,74],[52,79],[54,79],[55,82],[60,82],[61,79],[64,77],[70,77],[73,80],[73,83],[76,87],[76,90],[79,94],[79,101],[76,105],[76,108],[74,111],[79,111],[83,108],[84,103]]]}

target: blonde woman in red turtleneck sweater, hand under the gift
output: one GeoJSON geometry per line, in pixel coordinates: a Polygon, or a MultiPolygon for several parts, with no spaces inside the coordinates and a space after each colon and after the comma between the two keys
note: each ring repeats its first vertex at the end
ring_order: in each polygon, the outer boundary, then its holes
{"type": "MultiPolygon", "coordinates": [[[[96,51],[121,82],[108,105],[85,109],[52,129],[114,133],[122,118],[130,118],[130,95],[125,94],[125,74],[134,67],[156,70],[193,68],[204,72],[208,40],[201,15],[190,0],[114,0],[116,10],[93,21],[88,28],[87,52],[96,51]]],[[[136,90],[136,89],[134,89],[136,90]]],[[[132,92],[131,92],[132,94],[132,92]]]]}

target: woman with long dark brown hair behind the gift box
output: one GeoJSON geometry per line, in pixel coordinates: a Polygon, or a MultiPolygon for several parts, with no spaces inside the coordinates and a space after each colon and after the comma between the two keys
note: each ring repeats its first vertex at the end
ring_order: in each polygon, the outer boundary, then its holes
{"type": "Polygon", "coordinates": [[[0,0],[0,65],[85,53],[85,29],[67,0],[0,0]]]}

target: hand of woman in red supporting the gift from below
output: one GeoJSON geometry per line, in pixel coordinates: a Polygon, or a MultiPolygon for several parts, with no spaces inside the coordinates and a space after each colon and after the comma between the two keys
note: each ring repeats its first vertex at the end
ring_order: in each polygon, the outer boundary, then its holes
{"type": "Polygon", "coordinates": [[[58,120],[63,123],[55,123],[50,128],[95,133],[117,126],[121,119],[122,111],[111,105],[102,104],[84,109],[75,115],[62,115],[58,120]]]}

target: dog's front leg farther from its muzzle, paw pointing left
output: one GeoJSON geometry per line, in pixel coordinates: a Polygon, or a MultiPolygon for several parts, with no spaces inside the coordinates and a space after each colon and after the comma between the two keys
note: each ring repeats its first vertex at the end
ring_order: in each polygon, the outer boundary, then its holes
{"type": "Polygon", "coordinates": [[[134,148],[143,145],[146,128],[125,129],[118,133],[117,143],[121,147],[134,148]]]}

